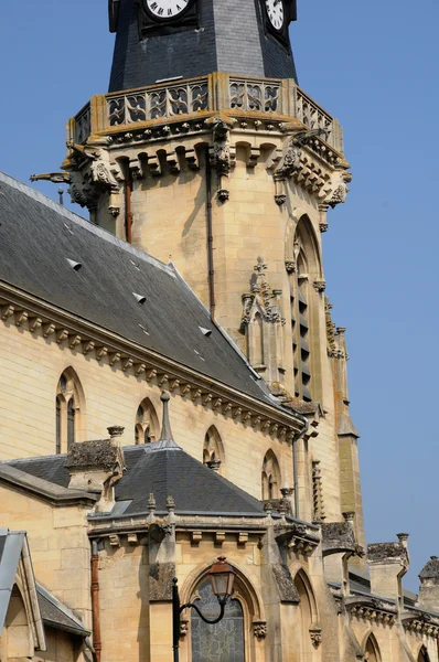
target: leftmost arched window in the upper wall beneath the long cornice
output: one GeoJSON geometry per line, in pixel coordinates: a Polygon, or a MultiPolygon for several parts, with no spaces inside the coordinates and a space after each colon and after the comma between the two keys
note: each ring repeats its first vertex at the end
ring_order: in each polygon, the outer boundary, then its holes
{"type": "Polygon", "coordinates": [[[72,367],[60,377],[56,388],[56,453],[67,452],[78,441],[81,420],[84,417],[84,392],[72,367]]]}

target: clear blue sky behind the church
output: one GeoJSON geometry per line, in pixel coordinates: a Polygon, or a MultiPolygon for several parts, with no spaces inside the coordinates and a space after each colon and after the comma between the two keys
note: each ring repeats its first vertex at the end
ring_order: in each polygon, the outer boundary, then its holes
{"type": "MultiPolygon", "coordinates": [[[[344,127],[353,182],[324,235],[328,293],[347,327],[368,542],[410,533],[410,572],[439,553],[436,202],[437,0],[298,0],[300,85],[344,127]]],[[[238,39],[238,35],[237,35],[238,39]]],[[[4,2],[0,169],[58,170],[65,122],[108,85],[106,0],[4,2]]],[[[56,186],[39,184],[57,199],[56,186]]]]}

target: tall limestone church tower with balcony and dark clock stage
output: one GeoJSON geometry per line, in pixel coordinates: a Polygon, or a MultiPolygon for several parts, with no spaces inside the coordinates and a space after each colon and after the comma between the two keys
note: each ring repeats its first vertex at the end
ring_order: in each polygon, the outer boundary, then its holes
{"type": "Polygon", "coordinates": [[[274,396],[311,418],[309,521],[355,514],[364,543],[344,329],[321,235],[351,179],[342,130],[297,82],[295,0],[110,0],[109,93],[68,124],[74,202],[172,260],[274,396]]]}

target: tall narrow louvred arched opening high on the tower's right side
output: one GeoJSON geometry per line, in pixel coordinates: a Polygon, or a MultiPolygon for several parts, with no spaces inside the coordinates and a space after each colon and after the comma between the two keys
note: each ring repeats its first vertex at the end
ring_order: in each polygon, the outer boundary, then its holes
{"type": "Polygon", "coordinates": [[[320,278],[319,252],[308,216],[300,218],[287,261],[290,284],[295,395],[310,402],[311,396],[311,314],[313,282],[320,278]]]}

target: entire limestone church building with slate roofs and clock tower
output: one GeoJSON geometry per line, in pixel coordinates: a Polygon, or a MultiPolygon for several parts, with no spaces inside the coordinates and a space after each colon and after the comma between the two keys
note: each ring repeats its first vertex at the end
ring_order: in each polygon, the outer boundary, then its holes
{"type": "Polygon", "coordinates": [[[364,540],[321,241],[351,173],[296,18],[109,0],[110,90],[33,177],[89,221],[0,173],[0,662],[439,661],[438,558],[416,596],[408,535],[364,540]]]}

